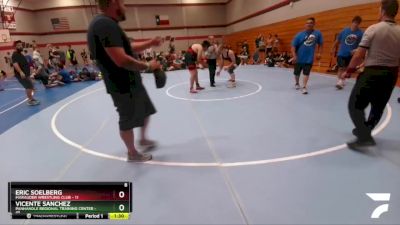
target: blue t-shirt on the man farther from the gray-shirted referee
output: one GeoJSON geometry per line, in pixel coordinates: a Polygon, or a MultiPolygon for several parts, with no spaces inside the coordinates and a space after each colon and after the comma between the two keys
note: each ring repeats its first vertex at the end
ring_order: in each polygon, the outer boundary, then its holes
{"type": "Polygon", "coordinates": [[[322,45],[323,42],[324,39],[319,30],[298,33],[292,41],[292,46],[296,48],[297,52],[297,63],[313,64],[315,47],[317,44],[322,45]]]}

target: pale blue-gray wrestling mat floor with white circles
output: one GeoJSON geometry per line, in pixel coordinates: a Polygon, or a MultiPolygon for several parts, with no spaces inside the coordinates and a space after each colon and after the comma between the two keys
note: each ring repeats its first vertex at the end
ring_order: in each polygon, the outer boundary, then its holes
{"type": "Polygon", "coordinates": [[[112,224],[111,221],[12,221],[9,181],[131,181],[132,219],[115,224],[398,224],[400,105],[396,89],[374,131],[378,145],[350,151],[353,125],[332,76],[313,73],[308,96],[292,70],[244,66],[190,95],[187,71],[168,72],[156,89],[149,135],[159,143],[148,163],[128,163],[118,118],[103,82],[38,88],[26,106],[15,80],[0,93],[0,224],[112,224]],[[389,211],[366,193],[391,193],[389,211]]]}

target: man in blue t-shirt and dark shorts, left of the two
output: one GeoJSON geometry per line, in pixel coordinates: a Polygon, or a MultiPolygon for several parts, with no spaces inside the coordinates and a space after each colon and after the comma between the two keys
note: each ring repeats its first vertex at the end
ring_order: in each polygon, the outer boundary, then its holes
{"type": "Polygon", "coordinates": [[[306,30],[298,33],[292,41],[292,54],[294,66],[294,75],[296,80],[296,90],[300,90],[300,75],[303,71],[302,93],[308,94],[307,83],[311,68],[314,63],[315,49],[318,46],[317,60],[321,59],[323,38],[319,30],[314,30],[315,19],[308,18],[306,30]]]}

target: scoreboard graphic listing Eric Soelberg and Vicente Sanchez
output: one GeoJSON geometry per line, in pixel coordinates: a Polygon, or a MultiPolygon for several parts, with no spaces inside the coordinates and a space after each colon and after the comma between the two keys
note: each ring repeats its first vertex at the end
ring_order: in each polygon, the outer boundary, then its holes
{"type": "Polygon", "coordinates": [[[128,220],[131,182],[9,182],[12,219],[128,220]]]}

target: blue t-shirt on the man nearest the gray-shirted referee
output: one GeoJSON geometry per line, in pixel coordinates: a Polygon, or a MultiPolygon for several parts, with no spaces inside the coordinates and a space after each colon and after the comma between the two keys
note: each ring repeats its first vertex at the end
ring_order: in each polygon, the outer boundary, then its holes
{"type": "Polygon", "coordinates": [[[363,36],[362,30],[352,31],[350,28],[345,28],[338,36],[340,42],[339,57],[350,57],[351,52],[358,48],[363,36]]]}

